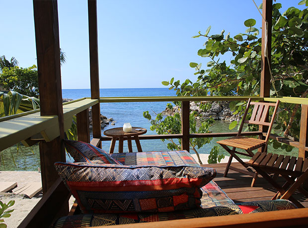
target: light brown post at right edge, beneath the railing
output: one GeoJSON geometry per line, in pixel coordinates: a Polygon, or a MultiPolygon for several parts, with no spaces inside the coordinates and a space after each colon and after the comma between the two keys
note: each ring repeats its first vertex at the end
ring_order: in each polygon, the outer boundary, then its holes
{"type": "Polygon", "coordinates": [[[307,158],[308,146],[308,105],[302,105],[299,158],[307,158]]]}

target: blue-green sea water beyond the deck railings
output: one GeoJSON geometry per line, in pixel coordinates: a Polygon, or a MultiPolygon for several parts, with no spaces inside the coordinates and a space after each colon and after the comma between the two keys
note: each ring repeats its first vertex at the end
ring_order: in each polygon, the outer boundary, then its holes
{"type": "MultiPolygon", "coordinates": [[[[90,97],[89,89],[64,89],[62,91],[63,98],[78,99],[82,97],[90,97]]],[[[101,97],[145,97],[145,96],[175,96],[175,92],[168,90],[167,88],[146,88],[146,89],[101,89],[101,97]]],[[[101,103],[101,114],[107,116],[108,118],[112,117],[116,122],[115,125],[107,125],[102,130],[103,131],[113,128],[113,127],[122,127],[123,123],[130,122],[132,126],[144,127],[148,129],[147,134],[156,134],[154,131],[150,130],[150,122],[143,117],[144,111],[149,111],[150,114],[162,112],[168,102],[131,102],[131,103],[101,103]]],[[[236,128],[229,130],[229,123],[226,121],[216,121],[210,130],[212,132],[230,132],[236,131],[236,128]]],[[[201,154],[209,154],[211,149],[218,145],[216,142],[224,139],[222,137],[214,138],[211,143],[204,145],[202,148],[198,149],[198,152],[201,154]]],[[[175,139],[176,140],[176,139],[175,139]]],[[[159,139],[155,140],[141,140],[141,145],[143,151],[162,151],[167,150],[168,141],[161,142],[159,139]]],[[[103,141],[102,148],[106,151],[109,151],[110,141],[103,141]]],[[[116,143],[116,147],[118,144],[116,143]]],[[[32,146],[33,152],[29,148],[22,148],[22,151],[19,151],[17,154],[16,147],[11,147],[2,151],[2,156],[0,158],[0,170],[23,170],[23,171],[37,171],[40,166],[39,160],[39,150],[38,146],[32,146]],[[16,167],[14,165],[12,156],[15,160],[16,167]],[[4,162],[4,167],[3,167],[4,162]]],[[[133,142],[133,150],[137,151],[137,147],[133,142]]],[[[116,151],[116,150],[115,150],[116,151]]],[[[223,148],[220,148],[220,151],[225,155],[228,155],[223,148]]],[[[286,154],[282,150],[274,150],[271,146],[268,148],[269,152],[275,152],[278,154],[286,154]]],[[[124,152],[128,152],[127,142],[124,141],[124,152]]],[[[194,153],[191,151],[191,153],[194,153]]],[[[293,149],[291,153],[288,153],[291,156],[298,156],[298,150],[293,149]]],[[[67,156],[67,160],[73,162],[73,160],[67,156]]]]}

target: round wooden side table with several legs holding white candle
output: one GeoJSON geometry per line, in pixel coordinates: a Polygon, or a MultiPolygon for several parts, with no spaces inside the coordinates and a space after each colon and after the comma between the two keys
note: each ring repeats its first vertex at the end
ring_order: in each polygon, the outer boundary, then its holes
{"type": "Polygon", "coordinates": [[[113,154],[115,142],[119,139],[119,153],[123,153],[123,141],[127,140],[128,151],[133,152],[132,139],[135,140],[138,152],[142,152],[142,148],[139,141],[139,136],[147,133],[146,128],[132,127],[131,132],[124,132],[122,127],[111,128],[104,131],[104,135],[112,137],[109,154],[113,154]],[[138,129],[138,130],[136,130],[138,129]],[[139,130],[140,129],[140,130],[139,130]]]}

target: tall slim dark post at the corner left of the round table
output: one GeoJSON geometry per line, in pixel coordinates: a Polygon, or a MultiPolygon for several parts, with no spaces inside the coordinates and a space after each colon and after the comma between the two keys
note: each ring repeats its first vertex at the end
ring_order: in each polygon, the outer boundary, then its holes
{"type": "MultiPolygon", "coordinates": [[[[88,0],[91,99],[99,99],[97,9],[96,0],[88,0]]],[[[93,138],[100,139],[100,104],[92,106],[93,138]]],[[[98,145],[101,147],[100,145],[98,145]]]]}

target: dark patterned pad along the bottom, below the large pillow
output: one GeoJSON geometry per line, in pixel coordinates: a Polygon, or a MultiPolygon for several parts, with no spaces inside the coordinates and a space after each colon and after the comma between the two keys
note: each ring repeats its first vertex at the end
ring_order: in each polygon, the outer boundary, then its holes
{"type": "Polygon", "coordinates": [[[175,219],[192,219],[224,215],[250,214],[295,208],[296,206],[288,200],[267,200],[169,213],[86,214],[62,217],[55,223],[54,228],[124,225],[175,219]]]}

